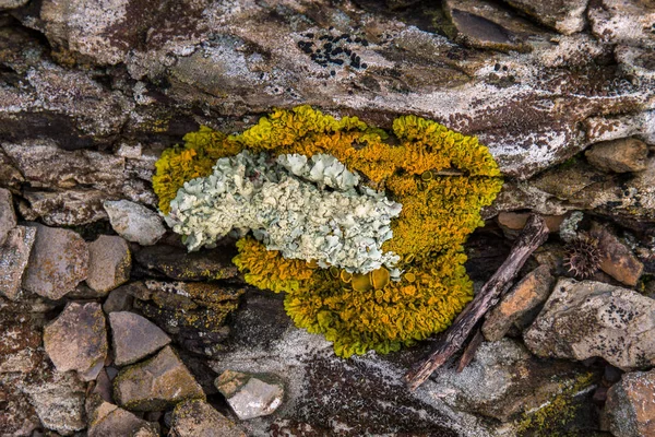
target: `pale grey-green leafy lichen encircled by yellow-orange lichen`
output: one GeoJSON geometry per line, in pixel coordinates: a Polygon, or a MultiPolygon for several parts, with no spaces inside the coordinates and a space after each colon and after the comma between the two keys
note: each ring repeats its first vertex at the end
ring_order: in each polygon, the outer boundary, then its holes
{"type": "Polygon", "coordinates": [[[252,231],[285,258],[352,273],[384,265],[395,276],[398,256],[384,252],[382,244],[392,237],[391,220],[401,209],[332,155],[273,160],[245,151],[218,160],[212,175],[186,182],[166,222],[189,250],[252,231]]]}

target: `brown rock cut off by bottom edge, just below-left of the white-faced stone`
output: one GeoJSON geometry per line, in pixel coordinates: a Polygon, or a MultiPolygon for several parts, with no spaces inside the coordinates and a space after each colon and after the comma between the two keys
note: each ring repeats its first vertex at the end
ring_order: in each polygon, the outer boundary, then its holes
{"type": "Polygon", "coordinates": [[[233,421],[209,403],[194,399],[177,404],[168,437],[246,437],[233,421]]]}

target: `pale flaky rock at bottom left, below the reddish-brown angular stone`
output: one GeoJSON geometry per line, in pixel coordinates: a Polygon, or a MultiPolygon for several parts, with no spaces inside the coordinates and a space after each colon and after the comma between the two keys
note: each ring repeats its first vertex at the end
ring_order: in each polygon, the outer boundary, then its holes
{"type": "Polygon", "coordinates": [[[48,429],[70,436],[84,429],[84,383],[73,371],[52,374],[51,379],[25,388],[38,417],[48,429]]]}

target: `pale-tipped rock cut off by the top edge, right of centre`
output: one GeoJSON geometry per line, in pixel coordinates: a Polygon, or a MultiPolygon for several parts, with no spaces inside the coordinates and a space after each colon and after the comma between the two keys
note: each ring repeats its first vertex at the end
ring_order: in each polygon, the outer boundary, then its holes
{"type": "Polygon", "coordinates": [[[571,35],[583,29],[588,0],[505,0],[545,26],[571,35]]]}

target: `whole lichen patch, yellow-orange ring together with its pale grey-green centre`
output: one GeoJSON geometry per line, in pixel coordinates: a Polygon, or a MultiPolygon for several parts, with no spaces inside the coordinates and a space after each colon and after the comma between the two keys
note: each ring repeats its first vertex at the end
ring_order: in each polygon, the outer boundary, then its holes
{"type": "MultiPolygon", "coordinates": [[[[234,262],[246,281],[284,292],[296,326],[325,335],[337,355],[397,351],[448,328],[472,299],[463,244],[484,224],[480,209],[491,204],[502,178],[474,137],[416,116],[398,117],[392,130],[393,138],[356,117],[335,119],[309,106],[274,110],[235,135],[203,127],[157,162],[153,185],[159,209],[174,229],[188,233],[192,247],[212,245],[230,231],[226,223],[240,229],[234,262]],[[229,209],[212,210],[227,198],[229,209]],[[335,221],[336,226],[307,233],[281,224],[289,215],[272,218],[282,211],[279,200],[291,198],[302,205],[294,214],[324,214],[325,204],[343,209],[341,202],[379,208],[352,214],[354,226],[373,226],[357,229],[376,236],[377,245],[365,250],[371,257],[327,250],[320,259],[306,252],[337,246],[330,237],[347,229],[335,221]],[[258,216],[259,210],[266,213],[258,216]],[[238,220],[223,222],[229,214],[238,220]],[[204,222],[218,216],[223,228],[205,234],[211,226],[204,222]],[[262,222],[264,228],[250,225],[262,222]],[[293,239],[275,243],[277,227],[315,241],[303,248],[294,247],[293,239]],[[201,237],[196,228],[203,229],[201,237]],[[245,235],[249,228],[258,231],[245,235]]],[[[340,249],[346,247],[338,241],[340,249]]]]}

